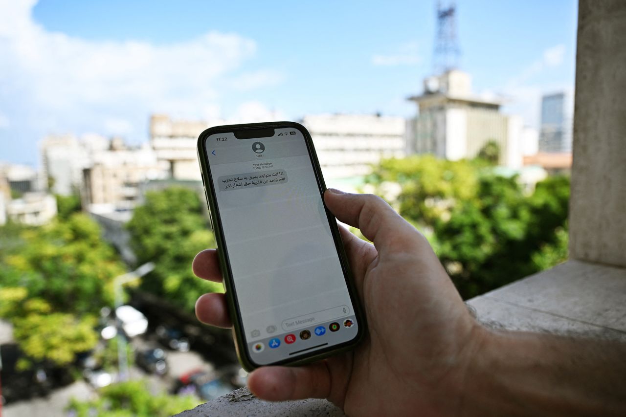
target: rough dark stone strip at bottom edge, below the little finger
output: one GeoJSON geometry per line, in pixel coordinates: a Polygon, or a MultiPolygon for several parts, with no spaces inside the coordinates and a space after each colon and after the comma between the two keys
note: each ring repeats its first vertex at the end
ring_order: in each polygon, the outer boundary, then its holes
{"type": "Polygon", "coordinates": [[[256,398],[247,388],[240,388],[230,394],[188,409],[177,417],[208,416],[304,416],[340,417],[345,416],[341,409],[326,399],[304,399],[302,401],[282,401],[269,403],[256,398]]]}

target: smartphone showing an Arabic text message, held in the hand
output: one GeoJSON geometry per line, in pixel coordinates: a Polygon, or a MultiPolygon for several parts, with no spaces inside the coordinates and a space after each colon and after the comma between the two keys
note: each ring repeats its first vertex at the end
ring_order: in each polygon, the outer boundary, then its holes
{"type": "Polygon", "coordinates": [[[244,369],[354,348],[364,315],[309,132],[290,121],[209,128],[198,160],[244,369]]]}

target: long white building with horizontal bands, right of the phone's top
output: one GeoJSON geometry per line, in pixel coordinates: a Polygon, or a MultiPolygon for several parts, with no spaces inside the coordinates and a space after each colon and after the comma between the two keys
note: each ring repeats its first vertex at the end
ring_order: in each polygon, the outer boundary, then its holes
{"type": "Polygon", "coordinates": [[[362,177],[381,158],[406,155],[405,121],[381,115],[308,115],[309,130],[326,180],[362,177]]]}

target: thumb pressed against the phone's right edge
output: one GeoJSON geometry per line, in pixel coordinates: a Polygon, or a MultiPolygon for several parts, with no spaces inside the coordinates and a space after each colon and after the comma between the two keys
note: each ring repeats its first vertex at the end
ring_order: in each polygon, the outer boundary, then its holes
{"type": "Polygon", "coordinates": [[[361,229],[384,257],[413,253],[424,244],[423,236],[382,198],[372,194],[350,194],[329,188],[324,202],[339,221],[361,229]]]}

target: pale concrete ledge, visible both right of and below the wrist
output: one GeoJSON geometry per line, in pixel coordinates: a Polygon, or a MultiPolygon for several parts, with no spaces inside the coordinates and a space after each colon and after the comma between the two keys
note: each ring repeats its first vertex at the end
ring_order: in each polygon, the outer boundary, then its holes
{"type": "MultiPolygon", "coordinates": [[[[626,269],[570,260],[468,301],[488,326],[626,341],[626,269]]],[[[269,403],[237,389],[180,417],[344,416],[324,399],[269,403]]]]}

